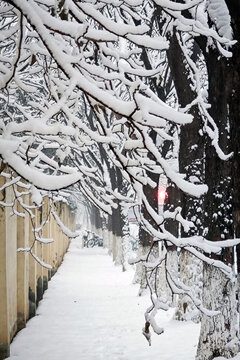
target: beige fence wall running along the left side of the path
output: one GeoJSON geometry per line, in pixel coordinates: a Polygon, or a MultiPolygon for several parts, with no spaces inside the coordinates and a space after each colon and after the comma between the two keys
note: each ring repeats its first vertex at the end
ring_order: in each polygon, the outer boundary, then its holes
{"type": "MultiPolygon", "coordinates": [[[[0,176],[0,188],[3,184],[0,176]]],[[[7,204],[14,202],[11,186],[0,193],[3,199],[7,204]]],[[[28,198],[24,202],[30,204],[28,198]]],[[[18,206],[18,215],[12,213],[12,206],[0,206],[0,360],[9,356],[12,338],[35,315],[70,241],[50,214],[47,197],[42,206],[31,209],[32,219],[18,206]],[[39,238],[36,229],[41,226],[39,238]]],[[[67,204],[58,203],[55,211],[69,229],[75,230],[75,217],[67,204]]]]}

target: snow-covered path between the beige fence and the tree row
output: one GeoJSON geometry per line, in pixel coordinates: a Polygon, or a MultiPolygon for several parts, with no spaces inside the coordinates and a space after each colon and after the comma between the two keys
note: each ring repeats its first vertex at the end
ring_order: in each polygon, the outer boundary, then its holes
{"type": "Polygon", "coordinates": [[[193,360],[199,326],[161,315],[165,327],[152,346],[141,334],[147,296],[133,272],[121,272],[104,249],[77,240],[31,319],[11,345],[11,360],[193,360]]]}

